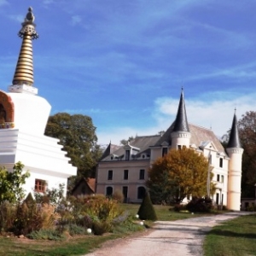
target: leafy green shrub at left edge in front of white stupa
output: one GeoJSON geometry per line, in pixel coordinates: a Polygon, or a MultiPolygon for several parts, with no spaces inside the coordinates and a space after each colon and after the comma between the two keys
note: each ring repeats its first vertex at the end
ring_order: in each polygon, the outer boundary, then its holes
{"type": "Polygon", "coordinates": [[[13,172],[0,167],[0,203],[3,201],[15,202],[24,197],[22,185],[26,183],[29,172],[23,172],[24,165],[17,162],[13,172]]]}

